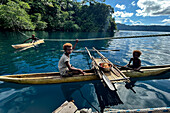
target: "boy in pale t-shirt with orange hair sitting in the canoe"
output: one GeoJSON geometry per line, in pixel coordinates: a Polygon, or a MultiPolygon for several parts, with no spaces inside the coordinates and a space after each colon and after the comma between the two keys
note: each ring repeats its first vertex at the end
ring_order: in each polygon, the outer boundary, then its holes
{"type": "Polygon", "coordinates": [[[65,43],[63,45],[64,54],[58,63],[58,68],[61,76],[72,76],[73,74],[84,75],[83,70],[75,68],[70,64],[70,54],[72,53],[73,49],[75,49],[77,43],[78,39],[76,40],[74,47],[72,47],[71,43],[65,43]]]}

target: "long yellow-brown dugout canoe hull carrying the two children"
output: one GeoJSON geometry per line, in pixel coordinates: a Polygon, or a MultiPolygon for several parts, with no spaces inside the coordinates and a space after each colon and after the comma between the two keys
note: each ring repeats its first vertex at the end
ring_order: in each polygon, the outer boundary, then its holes
{"type": "MultiPolygon", "coordinates": [[[[131,77],[131,78],[147,77],[147,76],[157,76],[167,71],[170,71],[170,65],[142,67],[141,71],[143,71],[143,73],[133,71],[133,70],[125,70],[121,68],[120,70],[127,77],[131,77]]],[[[2,75],[0,76],[0,81],[13,82],[19,84],[56,84],[56,83],[99,80],[99,77],[95,74],[93,69],[84,70],[84,71],[86,72],[86,75],[84,76],[74,75],[72,77],[61,77],[59,72],[2,75]]]]}

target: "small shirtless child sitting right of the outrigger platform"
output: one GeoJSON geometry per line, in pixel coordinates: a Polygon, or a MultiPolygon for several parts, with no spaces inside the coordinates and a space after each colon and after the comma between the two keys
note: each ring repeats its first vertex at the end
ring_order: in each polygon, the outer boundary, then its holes
{"type": "Polygon", "coordinates": [[[139,57],[140,57],[141,54],[142,54],[141,51],[134,50],[133,51],[133,58],[130,59],[129,63],[125,67],[132,68],[133,70],[140,70],[141,60],[139,59],[139,57]],[[132,65],[130,65],[131,62],[133,62],[132,65]]]}

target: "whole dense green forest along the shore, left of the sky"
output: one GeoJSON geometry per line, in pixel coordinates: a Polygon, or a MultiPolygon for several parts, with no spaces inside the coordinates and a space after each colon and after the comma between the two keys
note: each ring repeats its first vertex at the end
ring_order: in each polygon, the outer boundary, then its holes
{"type": "Polygon", "coordinates": [[[113,32],[113,13],[103,0],[1,0],[0,29],[113,32]]]}

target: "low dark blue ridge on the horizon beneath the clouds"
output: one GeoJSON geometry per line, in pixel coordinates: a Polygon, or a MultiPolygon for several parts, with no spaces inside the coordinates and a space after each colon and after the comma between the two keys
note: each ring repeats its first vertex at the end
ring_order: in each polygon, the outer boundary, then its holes
{"type": "Polygon", "coordinates": [[[133,30],[133,31],[164,31],[170,32],[170,26],[163,25],[125,25],[117,23],[118,30],[133,30]]]}

